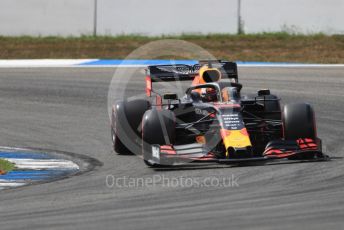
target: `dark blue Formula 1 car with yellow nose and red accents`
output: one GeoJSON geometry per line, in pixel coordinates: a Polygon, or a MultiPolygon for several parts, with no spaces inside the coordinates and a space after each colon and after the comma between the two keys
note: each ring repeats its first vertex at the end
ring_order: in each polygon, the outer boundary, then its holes
{"type": "Polygon", "coordinates": [[[309,104],[280,106],[262,89],[241,95],[237,65],[200,61],[146,69],[150,100],[124,100],[112,109],[114,150],[139,152],[151,166],[190,162],[240,164],[273,159],[325,159],[309,104]],[[154,82],[192,81],[185,94],[159,94],[154,82]]]}

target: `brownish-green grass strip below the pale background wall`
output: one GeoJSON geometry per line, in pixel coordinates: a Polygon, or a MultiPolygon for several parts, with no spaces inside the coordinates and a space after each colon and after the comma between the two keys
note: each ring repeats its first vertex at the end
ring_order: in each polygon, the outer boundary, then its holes
{"type": "MultiPolygon", "coordinates": [[[[344,63],[344,35],[324,34],[182,34],[81,37],[0,36],[0,59],[123,59],[151,41],[181,39],[203,47],[216,58],[241,61],[344,63]]],[[[180,57],[187,57],[181,54],[180,57]]],[[[173,58],[173,57],[171,57],[173,58]]]]}

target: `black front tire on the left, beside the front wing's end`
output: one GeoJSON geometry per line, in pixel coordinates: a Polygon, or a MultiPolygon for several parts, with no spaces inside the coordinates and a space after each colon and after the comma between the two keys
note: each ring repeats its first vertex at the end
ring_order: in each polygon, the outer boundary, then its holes
{"type": "Polygon", "coordinates": [[[152,145],[174,144],[176,118],[169,110],[148,110],[142,119],[142,153],[144,162],[150,167],[158,167],[152,163],[152,145]]]}

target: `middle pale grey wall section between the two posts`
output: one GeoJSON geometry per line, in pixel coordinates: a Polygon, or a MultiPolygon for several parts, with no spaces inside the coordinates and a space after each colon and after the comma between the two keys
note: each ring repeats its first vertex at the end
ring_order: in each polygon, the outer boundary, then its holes
{"type": "Polygon", "coordinates": [[[101,0],[100,34],[236,33],[236,0],[101,0]]]}

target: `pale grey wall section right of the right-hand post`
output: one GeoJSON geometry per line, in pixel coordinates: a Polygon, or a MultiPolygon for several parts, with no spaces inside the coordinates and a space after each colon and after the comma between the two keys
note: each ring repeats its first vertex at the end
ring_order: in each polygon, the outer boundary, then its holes
{"type": "Polygon", "coordinates": [[[244,29],[249,33],[343,34],[341,0],[241,0],[244,29]]]}

